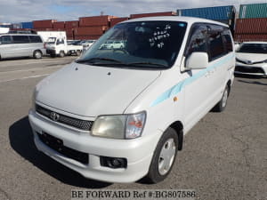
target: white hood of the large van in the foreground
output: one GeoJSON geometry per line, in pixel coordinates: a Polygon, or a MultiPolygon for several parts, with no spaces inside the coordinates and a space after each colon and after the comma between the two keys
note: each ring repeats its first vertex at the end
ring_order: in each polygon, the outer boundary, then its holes
{"type": "Polygon", "coordinates": [[[160,71],[72,63],[36,86],[36,101],[79,116],[122,114],[160,71]]]}

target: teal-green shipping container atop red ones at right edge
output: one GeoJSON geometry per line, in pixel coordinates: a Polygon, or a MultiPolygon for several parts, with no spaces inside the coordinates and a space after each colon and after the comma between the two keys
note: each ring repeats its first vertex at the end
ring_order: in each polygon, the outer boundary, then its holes
{"type": "Polygon", "coordinates": [[[240,4],[239,19],[267,18],[267,4],[240,4]]]}

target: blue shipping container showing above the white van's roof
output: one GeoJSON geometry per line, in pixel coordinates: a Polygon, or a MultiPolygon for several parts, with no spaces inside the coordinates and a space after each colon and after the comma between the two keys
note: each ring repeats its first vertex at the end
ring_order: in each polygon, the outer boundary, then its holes
{"type": "Polygon", "coordinates": [[[235,16],[235,7],[233,5],[227,5],[206,8],[178,9],[177,15],[204,18],[207,20],[230,20],[235,16]]]}

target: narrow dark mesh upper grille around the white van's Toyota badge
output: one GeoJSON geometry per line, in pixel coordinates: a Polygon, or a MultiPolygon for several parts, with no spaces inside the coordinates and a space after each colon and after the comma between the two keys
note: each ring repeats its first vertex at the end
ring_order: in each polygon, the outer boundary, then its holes
{"type": "MultiPolygon", "coordinates": [[[[52,110],[41,107],[39,105],[36,104],[36,112],[42,116],[45,116],[51,120],[53,120],[52,117],[52,110]]],[[[91,131],[92,125],[93,125],[93,121],[87,121],[87,120],[82,120],[82,119],[77,119],[77,118],[73,118],[70,116],[64,116],[61,115],[59,113],[56,113],[57,115],[59,115],[58,119],[56,120],[57,123],[60,124],[66,124],[72,127],[75,127],[77,129],[83,130],[83,131],[91,131]]],[[[55,121],[55,120],[53,120],[55,121]]]]}

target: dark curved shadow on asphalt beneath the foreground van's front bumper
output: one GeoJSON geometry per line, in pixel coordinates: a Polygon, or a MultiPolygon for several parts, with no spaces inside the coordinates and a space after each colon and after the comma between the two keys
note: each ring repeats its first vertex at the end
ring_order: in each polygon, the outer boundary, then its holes
{"type": "Polygon", "coordinates": [[[105,188],[111,185],[107,182],[85,179],[79,173],[70,170],[38,151],[33,140],[28,116],[21,118],[10,126],[9,139],[12,148],[20,156],[63,183],[80,188],[105,188]]]}

